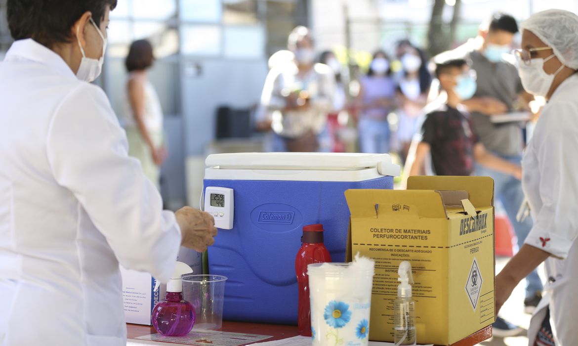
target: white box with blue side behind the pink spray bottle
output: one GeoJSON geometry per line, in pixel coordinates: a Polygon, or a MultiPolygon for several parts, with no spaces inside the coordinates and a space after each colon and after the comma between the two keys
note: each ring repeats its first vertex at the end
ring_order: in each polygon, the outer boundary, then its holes
{"type": "MultiPolygon", "coordinates": [[[[193,273],[202,274],[202,254],[181,247],[177,260],[188,264],[193,273]]],[[[161,285],[157,292],[154,286],[157,282],[149,273],[127,270],[120,267],[123,277],[124,318],[127,323],[137,325],[152,325],[151,313],[158,301],[164,299],[166,285],[161,285]]]]}

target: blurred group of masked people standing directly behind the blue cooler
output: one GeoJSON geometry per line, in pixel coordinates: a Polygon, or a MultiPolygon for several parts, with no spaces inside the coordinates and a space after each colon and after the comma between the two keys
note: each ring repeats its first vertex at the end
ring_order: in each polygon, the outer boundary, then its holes
{"type": "Polygon", "coordinates": [[[310,31],[297,27],[269,68],[257,112],[258,130],[271,131],[268,150],[395,152],[405,161],[432,83],[419,47],[400,41],[395,57],[377,50],[355,73],[333,51],[316,54],[310,31]]]}

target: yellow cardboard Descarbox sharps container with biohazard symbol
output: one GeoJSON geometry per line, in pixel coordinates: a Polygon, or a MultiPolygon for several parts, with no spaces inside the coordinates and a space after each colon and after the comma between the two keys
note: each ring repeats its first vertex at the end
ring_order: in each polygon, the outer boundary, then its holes
{"type": "Polygon", "coordinates": [[[347,190],[347,257],[375,259],[369,338],[393,341],[398,266],[412,264],[417,342],[450,345],[494,322],[494,181],[416,176],[408,190],[347,190]]]}

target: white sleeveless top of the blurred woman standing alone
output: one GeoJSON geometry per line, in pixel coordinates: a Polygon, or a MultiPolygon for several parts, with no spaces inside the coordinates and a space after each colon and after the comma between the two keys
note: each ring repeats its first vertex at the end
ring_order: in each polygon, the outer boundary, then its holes
{"type": "MultiPolygon", "coordinates": [[[[129,74],[128,80],[135,78],[133,73],[129,74]]],[[[150,132],[162,132],[162,108],[161,101],[158,98],[157,91],[154,90],[153,84],[149,79],[144,82],[144,125],[150,132]]],[[[132,111],[128,88],[125,88],[125,98],[123,106],[123,125],[125,127],[136,127],[134,112],[132,111]]]]}

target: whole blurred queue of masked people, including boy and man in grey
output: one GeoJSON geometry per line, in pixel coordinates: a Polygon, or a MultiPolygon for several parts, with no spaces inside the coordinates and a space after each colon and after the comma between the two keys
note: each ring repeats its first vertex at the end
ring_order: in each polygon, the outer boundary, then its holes
{"type": "MultiPolygon", "coordinates": [[[[525,125],[538,116],[540,100],[524,91],[510,54],[517,33],[516,20],[497,13],[476,38],[451,51],[429,59],[403,40],[375,51],[366,73],[350,73],[358,71],[351,61],[332,51],[317,55],[310,31],[297,27],[288,50],[269,61],[258,129],[269,132],[273,152],[394,154],[405,179],[491,176],[521,248],[532,229],[530,218],[517,219],[524,203],[521,153],[525,125]]],[[[542,289],[534,270],[527,277],[527,312],[542,289]]],[[[494,323],[497,336],[520,331],[501,318],[494,323]]]]}

